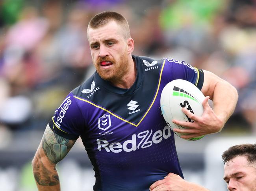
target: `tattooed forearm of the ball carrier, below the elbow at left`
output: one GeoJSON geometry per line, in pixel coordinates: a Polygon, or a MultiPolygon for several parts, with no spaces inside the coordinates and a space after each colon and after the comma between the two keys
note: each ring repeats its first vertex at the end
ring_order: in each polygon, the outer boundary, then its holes
{"type": "Polygon", "coordinates": [[[39,191],[60,191],[56,164],[52,164],[42,150],[36,153],[32,161],[32,168],[39,191]]]}

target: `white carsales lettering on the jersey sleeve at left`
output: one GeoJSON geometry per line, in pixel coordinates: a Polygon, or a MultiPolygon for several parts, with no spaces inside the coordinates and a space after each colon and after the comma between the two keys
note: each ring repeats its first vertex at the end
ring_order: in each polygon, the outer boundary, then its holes
{"type": "Polygon", "coordinates": [[[70,104],[72,103],[72,101],[70,100],[70,96],[68,96],[61,104],[61,106],[58,107],[58,109],[55,110],[54,112],[54,117],[57,117],[57,120],[55,121],[55,125],[60,128],[61,123],[62,123],[62,119],[65,116],[67,110],[69,109],[70,104]],[[59,112],[59,113],[58,113],[59,112]]]}

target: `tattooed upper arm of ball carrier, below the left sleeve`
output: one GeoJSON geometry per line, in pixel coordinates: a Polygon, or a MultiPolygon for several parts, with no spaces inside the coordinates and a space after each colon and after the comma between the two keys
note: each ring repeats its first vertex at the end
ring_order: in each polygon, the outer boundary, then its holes
{"type": "Polygon", "coordinates": [[[50,162],[56,164],[67,155],[75,142],[54,133],[47,125],[40,145],[50,162]]]}

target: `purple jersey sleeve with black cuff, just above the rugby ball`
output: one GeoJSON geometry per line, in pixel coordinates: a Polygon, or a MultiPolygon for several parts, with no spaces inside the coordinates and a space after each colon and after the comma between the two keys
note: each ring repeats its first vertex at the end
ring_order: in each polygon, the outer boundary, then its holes
{"type": "Polygon", "coordinates": [[[165,75],[168,75],[169,80],[182,79],[195,84],[199,89],[202,89],[204,83],[204,72],[197,69],[186,61],[165,59],[165,75]],[[169,73],[169,74],[168,74],[169,73]]]}

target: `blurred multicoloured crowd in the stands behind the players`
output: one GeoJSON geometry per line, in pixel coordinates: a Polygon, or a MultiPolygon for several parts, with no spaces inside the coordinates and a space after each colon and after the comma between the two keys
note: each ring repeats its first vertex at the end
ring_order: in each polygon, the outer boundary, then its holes
{"type": "Polygon", "coordinates": [[[105,10],[127,18],[134,55],[186,60],[234,85],[224,131],[256,134],[256,0],[1,0],[0,129],[45,129],[95,71],[87,24],[105,10]]]}

